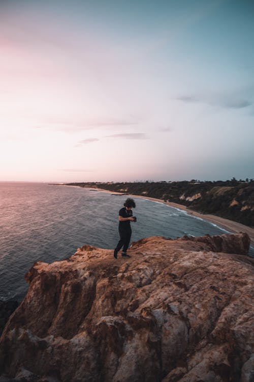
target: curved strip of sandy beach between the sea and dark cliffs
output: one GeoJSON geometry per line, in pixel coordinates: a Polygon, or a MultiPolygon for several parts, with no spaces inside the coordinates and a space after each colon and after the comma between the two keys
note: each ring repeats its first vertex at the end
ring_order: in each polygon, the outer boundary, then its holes
{"type": "MultiPolygon", "coordinates": [[[[73,186],[73,187],[80,187],[80,186],[73,186]]],[[[126,195],[123,193],[110,191],[110,190],[104,189],[104,188],[93,188],[93,187],[81,187],[81,188],[94,189],[94,190],[102,191],[102,192],[105,192],[108,194],[116,194],[116,195],[123,195],[123,196],[126,195]]],[[[210,223],[214,223],[219,228],[223,228],[224,230],[229,231],[230,233],[246,232],[250,238],[250,245],[254,245],[254,228],[250,228],[248,226],[245,226],[244,224],[234,222],[233,220],[225,219],[225,217],[211,215],[209,213],[205,214],[205,213],[197,212],[197,211],[194,211],[192,209],[189,209],[188,207],[186,207],[182,204],[177,204],[177,203],[173,203],[173,202],[165,202],[162,199],[150,198],[148,196],[141,196],[141,195],[131,195],[131,194],[128,194],[126,196],[133,197],[133,198],[147,199],[147,200],[151,200],[153,202],[159,202],[159,203],[166,204],[169,207],[173,207],[173,208],[177,208],[177,209],[186,211],[189,215],[199,217],[200,219],[206,220],[210,223]]]]}

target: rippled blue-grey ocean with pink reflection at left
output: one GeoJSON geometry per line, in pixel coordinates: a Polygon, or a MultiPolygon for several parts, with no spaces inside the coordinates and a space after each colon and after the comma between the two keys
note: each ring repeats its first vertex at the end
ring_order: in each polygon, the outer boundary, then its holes
{"type": "MultiPolygon", "coordinates": [[[[83,244],[115,248],[125,199],[81,187],[0,182],[0,299],[22,301],[28,288],[24,275],[36,261],[65,259],[83,244]]],[[[163,203],[134,199],[132,241],[227,232],[163,203]]]]}

